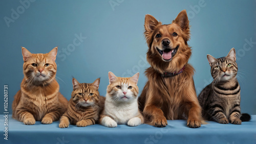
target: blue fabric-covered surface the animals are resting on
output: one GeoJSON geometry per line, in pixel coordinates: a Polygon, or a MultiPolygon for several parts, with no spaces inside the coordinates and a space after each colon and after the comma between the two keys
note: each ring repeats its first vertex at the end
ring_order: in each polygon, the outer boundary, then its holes
{"type": "Polygon", "coordinates": [[[186,127],[184,120],[168,121],[165,128],[143,124],[138,127],[118,125],[116,128],[70,125],[60,129],[59,122],[50,125],[36,122],[27,126],[8,116],[8,140],[5,140],[5,117],[0,115],[0,143],[256,143],[256,115],[242,125],[208,122],[198,129],[186,127]]]}

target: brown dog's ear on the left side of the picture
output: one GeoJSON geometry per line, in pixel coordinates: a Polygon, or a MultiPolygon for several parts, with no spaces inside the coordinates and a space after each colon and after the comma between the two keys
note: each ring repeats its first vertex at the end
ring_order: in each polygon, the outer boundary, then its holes
{"type": "Polygon", "coordinates": [[[145,15],[144,27],[145,27],[146,32],[151,33],[152,31],[154,31],[156,29],[156,27],[160,23],[161,22],[158,22],[157,19],[154,16],[152,16],[150,14],[145,15]]]}

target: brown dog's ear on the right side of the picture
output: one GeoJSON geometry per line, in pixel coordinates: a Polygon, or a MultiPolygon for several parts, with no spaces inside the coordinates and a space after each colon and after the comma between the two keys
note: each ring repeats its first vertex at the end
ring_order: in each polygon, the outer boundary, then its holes
{"type": "Polygon", "coordinates": [[[179,25],[182,31],[187,30],[189,28],[189,20],[187,17],[186,10],[181,11],[178,16],[173,20],[173,23],[179,25]]]}

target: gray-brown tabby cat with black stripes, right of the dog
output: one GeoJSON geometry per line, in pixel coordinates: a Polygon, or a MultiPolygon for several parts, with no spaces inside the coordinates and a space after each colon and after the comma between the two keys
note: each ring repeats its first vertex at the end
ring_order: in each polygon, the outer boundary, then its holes
{"type": "Polygon", "coordinates": [[[238,64],[234,48],[226,57],[216,59],[207,55],[207,59],[214,81],[206,86],[198,96],[203,118],[220,124],[229,122],[241,125],[242,122],[250,121],[249,114],[241,114],[240,85],[236,78],[238,64]]]}

